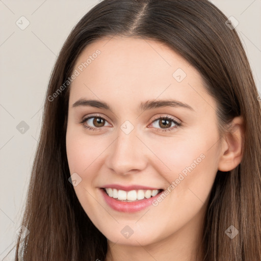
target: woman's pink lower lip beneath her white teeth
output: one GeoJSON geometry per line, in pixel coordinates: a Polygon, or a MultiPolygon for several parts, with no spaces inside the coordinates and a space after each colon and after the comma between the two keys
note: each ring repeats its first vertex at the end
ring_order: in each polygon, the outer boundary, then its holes
{"type": "Polygon", "coordinates": [[[133,202],[126,202],[126,201],[120,201],[117,200],[115,198],[110,197],[105,190],[100,189],[101,193],[105,199],[105,201],[107,202],[107,204],[113,208],[113,210],[119,211],[119,212],[128,212],[128,213],[132,213],[132,212],[138,212],[141,210],[144,210],[146,207],[148,207],[149,205],[152,204],[152,201],[155,200],[156,198],[158,198],[161,193],[158,193],[156,196],[151,197],[151,198],[144,198],[138,201],[133,201],[133,202]]]}

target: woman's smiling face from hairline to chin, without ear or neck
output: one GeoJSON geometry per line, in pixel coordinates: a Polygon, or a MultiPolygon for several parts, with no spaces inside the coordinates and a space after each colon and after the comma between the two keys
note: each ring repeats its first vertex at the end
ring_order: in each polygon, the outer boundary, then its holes
{"type": "Polygon", "coordinates": [[[67,158],[91,221],[123,245],[189,237],[219,159],[217,104],[200,74],[163,43],[120,37],[88,45],[74,73],[67,158]]]}

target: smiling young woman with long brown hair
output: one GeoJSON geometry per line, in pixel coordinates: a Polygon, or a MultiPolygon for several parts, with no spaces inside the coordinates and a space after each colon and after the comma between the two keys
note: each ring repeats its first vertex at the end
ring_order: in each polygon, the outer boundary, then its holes
{"type": "Polygon", "coordinates": [[[105,0],[77,23],[16,260],[261,259],[260,102],[227,24],[206,0],[105,0]]]}

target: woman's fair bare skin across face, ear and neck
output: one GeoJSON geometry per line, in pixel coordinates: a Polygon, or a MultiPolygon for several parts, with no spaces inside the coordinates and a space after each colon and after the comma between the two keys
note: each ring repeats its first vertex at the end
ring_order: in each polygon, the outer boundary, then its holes
{"type": "Polygon", "coordinates": [[[243,120],[234,118],[231,135],[220,139],[217,103],[207,94],[199,72],[163,43],[102,38],[83,50],[74,69],[97,49],[101,54],[70,86],[67,158],[70,173],[82,178],[75,193],[108,239],[107,261],[194,260],[216,173],[235,168],[242,159],[243,120]],[[181,82],[172,76],[178,68],[187,74],[181,82]],[[80,98],[105,101],[112,110],[72,107],[80,98]],[[160,99],[175,99],[193,110],[139,110],[140,102],[160,99]],[[97,125],[97,118],[80,123],[93,114],[105,118],[105,125],[97,125]],[[164,132],[160,116],[175,119],[181,127],[164,132]],[[129,134],[120,128],[126,120],[134,126],[129,134]],[[157,206],[122,213],[101,195],[99,188],[106,184],[167,189],[202,154],[204,159],[157,206]],[[134,231],[128,239],[121,233],[126,225],[134,231]]]}

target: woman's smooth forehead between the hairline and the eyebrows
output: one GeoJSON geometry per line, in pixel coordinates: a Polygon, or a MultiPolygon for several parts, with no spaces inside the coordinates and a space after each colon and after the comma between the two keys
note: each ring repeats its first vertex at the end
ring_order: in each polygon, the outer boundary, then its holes
{"type": "Polygon", "coordinates": [[[166,44],[154,40],[101,38],[85,47],[74,70],[79,75],[70,86],[70,103],[87,96],[122,102],[159,97],[197,107],[197,101],[207,95],[200,73],[166,44]]]}

